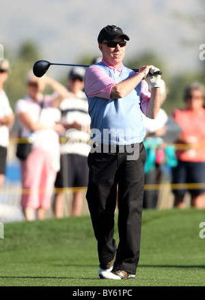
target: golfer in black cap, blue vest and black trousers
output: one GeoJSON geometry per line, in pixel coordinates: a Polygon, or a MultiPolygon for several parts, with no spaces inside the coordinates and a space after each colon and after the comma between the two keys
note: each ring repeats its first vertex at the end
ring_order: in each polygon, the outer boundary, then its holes
{"type": "Polygon", "coordinates": [[[160,108],[158,68],[142,66],[135,73],[122,64],[126,41],[120,27],[107,25],[98,35],[102,62],[85,73],[93,147],[87,203],[98,241],[98,278],[135,278],[141,239],[145,129],[141,113],[155,118],[160,108]],[[153,75],[148,75],[148,73],[153,75]],[[148,91],[147,77],[151,86],[148,91]],[[114,217],[118,187],[117,247],[114,217]]]}

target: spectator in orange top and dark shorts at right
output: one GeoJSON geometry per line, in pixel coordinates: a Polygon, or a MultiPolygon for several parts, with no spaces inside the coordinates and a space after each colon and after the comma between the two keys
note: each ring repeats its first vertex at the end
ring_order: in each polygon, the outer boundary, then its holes
{"type": "Polygon", "coordinates": [[[184,90],[185,108],[174,111],[174,119],[182,127],[176,142],[178,165],[172,168],[172,184],[185,184],[184,188],[173,189],[174,205],[184,208],[184,195],[191,194],[191,205],[205,208],[205,87],[193,82],[184,90]],[[195,184],[190,187],[190,184],[195,184]]]}

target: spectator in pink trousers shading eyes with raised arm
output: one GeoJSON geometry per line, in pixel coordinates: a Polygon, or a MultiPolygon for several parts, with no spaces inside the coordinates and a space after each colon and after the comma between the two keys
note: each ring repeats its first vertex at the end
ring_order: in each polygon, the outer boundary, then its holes
{"type": "Polygon", "coordinates": [[[20,160],[23,195],[21,205],[25,218],[33,220],[46,217],[51,204],[51,194],[59,170],[59,132],[64,127],[57,124],[59,103],[68,91],[57,81],[44,75],[38,78],[29,72],[26,79],[28,93],[16,103],[16,115],[20,120],[21,137],[32,132],[33,147],[25,160],[20,160]],[[43,95],[49,86],[53,95],[43,95]]]}

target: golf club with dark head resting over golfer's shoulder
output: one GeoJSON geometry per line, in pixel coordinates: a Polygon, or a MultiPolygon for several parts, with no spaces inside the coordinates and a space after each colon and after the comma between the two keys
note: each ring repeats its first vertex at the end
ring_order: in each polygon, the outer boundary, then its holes
{"type": "MultiPolygon", "coordinates": [[[[57,66],[83,66],[85,68],[88,68],[90,65],[87,64],[56,64],[53,62],[48,62],[47,60],[38,60],[33,64],[33,74],[36,77],[42,77],[49,69],[49,66],[51,65],[57,65],[57,66]]],[[[139,68],[133,68],[133,71],[138,72],[139,68]]],[[[157,71],[156,74],[161,75],[161,71],[157,71]]]]}

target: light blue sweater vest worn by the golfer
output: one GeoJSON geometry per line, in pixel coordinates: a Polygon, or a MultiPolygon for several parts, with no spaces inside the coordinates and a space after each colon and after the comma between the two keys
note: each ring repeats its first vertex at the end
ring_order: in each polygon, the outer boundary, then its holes
{"type": "MultiPolygon", "coordinates": [[[[135,74],[133,70],[124,66],[120,76],[116,77],[114,72],[102,62],[96,65],[100,66],[115,82],[122,82],[135,74]]],[[[141,82],[126,97],[120,99],[109,100],[87,96],[92,141],[105,145],[131,145],[143,141],[145,128],[140,99],[141,82]]]]}

